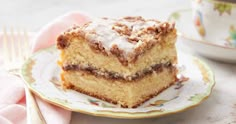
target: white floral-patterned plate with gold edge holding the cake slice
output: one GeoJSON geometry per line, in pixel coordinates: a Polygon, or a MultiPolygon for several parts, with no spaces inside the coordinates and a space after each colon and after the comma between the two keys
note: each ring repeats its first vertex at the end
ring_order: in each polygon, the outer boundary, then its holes
{"type": "Polygon", "coordinates": [[[73,90],[63,90],[60,86],[58,57],[59,53],[53,46],[28,59],[22,68],[22,76],[28,87],[47,102],[95,116],[149,118],[177,113],[199,105],[211,94],[215,84],[213,73],[204,62],[179,54],[179,65],[184,65],[180,70],[190,78],[188,81],[177,82],[138,108],[120,108],[73,90]]]}

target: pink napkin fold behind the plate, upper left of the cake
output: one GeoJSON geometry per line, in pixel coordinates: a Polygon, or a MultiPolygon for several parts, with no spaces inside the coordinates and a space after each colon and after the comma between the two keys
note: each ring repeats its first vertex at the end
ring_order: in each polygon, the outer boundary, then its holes
{"type": "Polygon", "coordinates": [[[72,27],[73,25],[82,25],[88,22],[90,18],[78,12],[71,12],[62,17],[59,17],[52,23],[42,28],[42,30],[35,37],[32,44],[33,51],[48,47],[55,44],[56,39],[60,33],[72,27]]]}

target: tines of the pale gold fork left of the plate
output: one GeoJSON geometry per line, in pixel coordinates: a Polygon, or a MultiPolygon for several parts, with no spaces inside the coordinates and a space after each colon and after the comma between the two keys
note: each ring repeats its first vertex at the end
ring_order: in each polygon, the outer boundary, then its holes
{"type": "Polygon", "coordinates": [[[3,65],[4,68],[20,67],[29,56],[29,40],[25,30],[3,28],[3,65]]]}

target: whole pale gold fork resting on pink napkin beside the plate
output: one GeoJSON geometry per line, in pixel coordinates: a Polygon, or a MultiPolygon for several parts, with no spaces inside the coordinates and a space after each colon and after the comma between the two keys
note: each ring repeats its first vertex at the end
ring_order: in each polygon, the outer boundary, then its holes
{"type": "MultiPolygon", "coordinates": [[[[3,69],[8,73],[20,77],[20,68],[24,61],[30,56],[29,38],[25,30],[9,31],[3,28],[3,69]]],[[[40,112],[34,96],[25,84],[27,123],[44,124],[45,119],[40,112]]]]}

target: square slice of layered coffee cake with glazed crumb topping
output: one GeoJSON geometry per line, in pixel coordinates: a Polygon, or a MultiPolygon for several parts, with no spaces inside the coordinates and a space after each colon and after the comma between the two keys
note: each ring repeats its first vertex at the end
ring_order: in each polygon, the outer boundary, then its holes
{"type": "Polygon", "coordinates": [[[174,24],[96,19],[58,37],[64,88],[137,107],[176,81],[174,24]]]}

